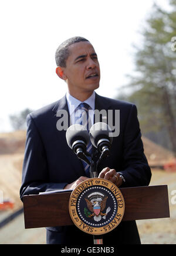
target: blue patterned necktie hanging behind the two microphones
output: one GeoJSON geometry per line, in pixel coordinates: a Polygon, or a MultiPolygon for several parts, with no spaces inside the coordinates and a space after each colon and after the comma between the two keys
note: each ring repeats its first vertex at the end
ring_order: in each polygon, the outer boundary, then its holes
{"type": "MultiPolygon", "coordinates": [[[[83,126],[86,127],[86,129],[89,132],[89,128],[91,127],[91,122],[90,122],[90,117],[89,117],[89,104],[87,103],[80,103],[79,106],[77,107],[76,111],[79,111],[79,115],[76,114],[75,117],[75,123],[77,124],[82,124],[83,126]]],[[[92,151],[92,143],[89,141],[89,144],[87,146],[87,152],[91,153],[92,151]]],[[[90,157],[88,157],[90,160],[90,157]]],[[[86,172],[86,176],[90,178],[90,166],[85,163],[83,160],[83,166],[84,166],[84,171],[86,172]]]]}

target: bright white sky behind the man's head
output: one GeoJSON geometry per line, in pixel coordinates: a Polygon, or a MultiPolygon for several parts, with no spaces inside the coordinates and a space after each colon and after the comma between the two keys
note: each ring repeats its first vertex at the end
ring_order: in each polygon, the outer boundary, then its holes
{"type": "MultiPolygon", "coordinates": [[[[55,51],[76,35],[97,52],[101,80],[96,90],[114,98],[134,70],[133,47],[153,0],[0,0],[0,132],[11,132],[10,114],[40,109],[67,91],[57,77],[55,51]]],[[[156,0],[167,7],[167,0],[156,0]]]]}

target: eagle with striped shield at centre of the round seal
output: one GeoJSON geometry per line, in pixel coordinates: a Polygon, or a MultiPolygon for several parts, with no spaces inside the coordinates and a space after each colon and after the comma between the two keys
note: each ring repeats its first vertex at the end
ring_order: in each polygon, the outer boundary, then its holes
{"type": "Polygon", "coordinates": [[[89,212],[86,208],[84,208],[84,214],[88,218],[93,217],[94,221],[100,221],[101,218],[106,219],[106,215],[110,211],[110,207],[106,209],[105,213],[103,213],[103,211],[106,208],[106,201],[108,196],[104,196],[103,193],[100,192],[94,192],[84,199],[87,203],[87,208],[90,211],[89,212]]]}

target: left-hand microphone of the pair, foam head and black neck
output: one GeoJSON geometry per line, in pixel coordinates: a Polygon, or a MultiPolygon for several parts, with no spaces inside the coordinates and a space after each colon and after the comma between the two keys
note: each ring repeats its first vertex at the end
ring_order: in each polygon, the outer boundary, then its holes
{"type": "Polygon", "coordinates": [[[90,165],[89,159],[86,156],[90,156],[87,152],[87,145],[89,144],[89,132],[86,127],[81,124],[73,124],[66,131],[67,145],[80,159],[90,165]],[[85,156],[86,155],[86,156],[85,156]]]}

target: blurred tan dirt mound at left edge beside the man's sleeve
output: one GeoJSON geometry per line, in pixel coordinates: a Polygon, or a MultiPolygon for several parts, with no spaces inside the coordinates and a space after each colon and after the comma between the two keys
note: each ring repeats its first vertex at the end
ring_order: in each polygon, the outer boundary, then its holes
{"type": "Polygon", "coordinates": [[[19,189],[25,140],[26,131],[0,133],[0,189],[4,200],[9,199],[14,203],[12,212],[22,207],[19,189]]]}

